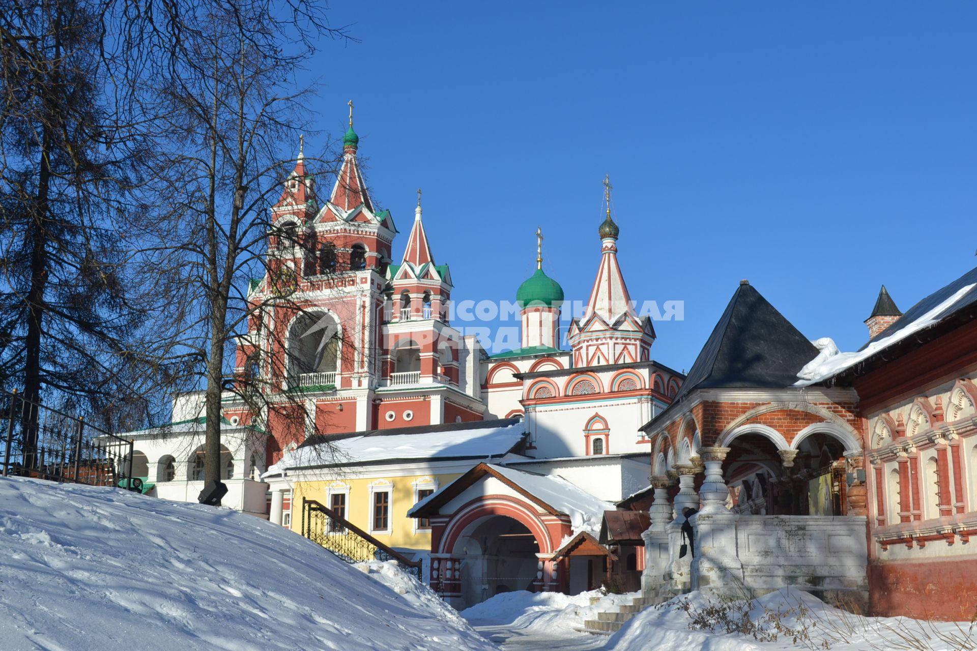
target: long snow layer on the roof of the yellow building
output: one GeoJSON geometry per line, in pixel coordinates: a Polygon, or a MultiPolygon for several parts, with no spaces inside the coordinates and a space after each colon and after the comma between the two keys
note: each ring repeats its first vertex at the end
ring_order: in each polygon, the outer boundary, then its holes
{"type": "Polygon", "coordinates": [[[365,464],[409,459],[500,457],[523,437],[523,424],[410,434],[371,433],[292,450],[263,476],[290,468],[365,464]]]}

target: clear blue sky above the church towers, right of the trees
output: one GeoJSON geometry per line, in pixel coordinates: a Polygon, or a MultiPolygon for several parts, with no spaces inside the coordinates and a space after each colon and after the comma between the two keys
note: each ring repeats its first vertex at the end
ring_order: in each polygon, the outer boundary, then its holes
{"type": "MultiPolygon", "coordinates": [[[[977,265],[977,4],[334,0],[312,121],[345,128],[403,255],[424,189],[455,301],[534,268],[585,301],[605,174],[632,298],[685,302],[688,369],[741,278],[810,338],[867,339],[977,265]]],[[[321,138],[320,138],[321,140],[321,138]]],[[[464,324],[459,324],[464,325],[464,324]]]]}

